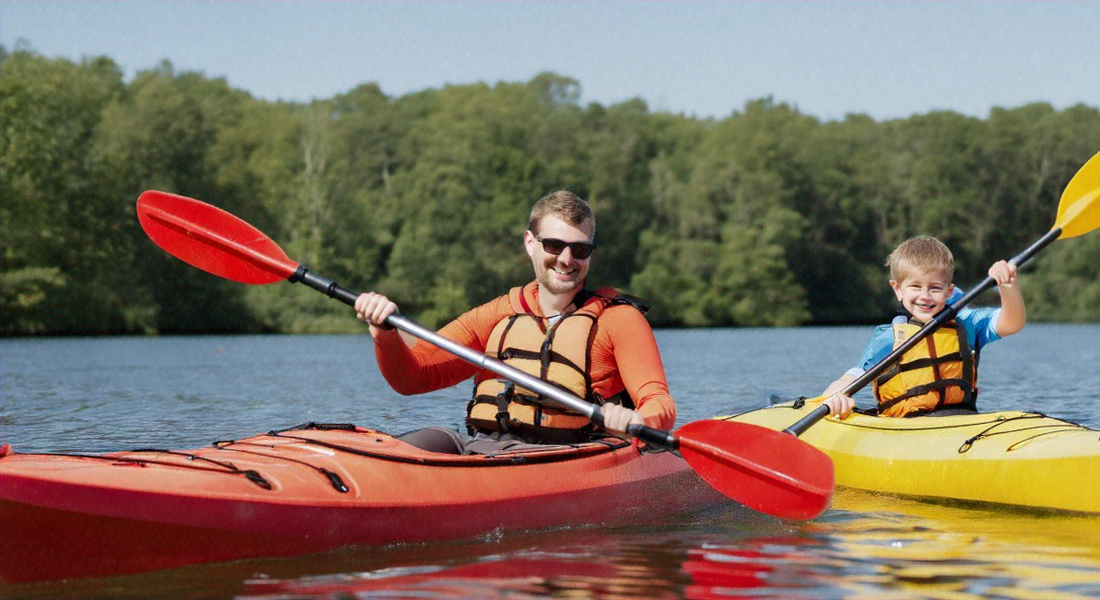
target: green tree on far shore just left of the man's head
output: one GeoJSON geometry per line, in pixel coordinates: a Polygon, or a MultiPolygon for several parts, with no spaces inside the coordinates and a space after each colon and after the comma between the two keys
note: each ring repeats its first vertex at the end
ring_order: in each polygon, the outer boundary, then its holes
{"type": "Polygon", "coordinates": [[[530,123],[558,108],[513,84],[432,96],[393,177],[403,217],[378,287],[439,324],[530,276],[519,252],[527,211],[558,179],[532,150],[530,123]]]}

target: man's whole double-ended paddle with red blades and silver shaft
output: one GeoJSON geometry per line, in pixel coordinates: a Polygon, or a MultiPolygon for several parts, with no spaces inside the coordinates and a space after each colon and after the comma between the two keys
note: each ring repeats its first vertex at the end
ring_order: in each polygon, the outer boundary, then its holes
{"type": "MultiPolygon", "coordinates": [[[[349,306],[359,296],[292,261],[267,236],[209,204],[150,190],[138,198],[138,218],[162,249],[215,275],[251,284],[283,280],[302,283],[349,306]]],[[[455,343],[404,316],[391,315],[386,324],[603,424],[600,406],[541,379],[455,343]]],[[[828,508],[833,497],[833,461],[828,456],[780,432],[705,419],[689,423],[674,434],[639,425],[630,425],[628,433],[651,446],[679,451],[716,490],[767,514],[813,519],[828,508]]]]}

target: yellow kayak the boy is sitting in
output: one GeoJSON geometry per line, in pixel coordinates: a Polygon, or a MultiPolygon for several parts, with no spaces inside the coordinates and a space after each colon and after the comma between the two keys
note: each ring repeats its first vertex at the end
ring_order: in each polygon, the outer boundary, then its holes
{"type": "MultiPolygon", "coordinates": [[[[716,417],[782,430],[820,402],[716,417]]],[[[935,501],[1100,513],[1100,432],[1007,411],[890,418],[854,413],[800,436],[833,459],[836,484],[935,501]]]]}

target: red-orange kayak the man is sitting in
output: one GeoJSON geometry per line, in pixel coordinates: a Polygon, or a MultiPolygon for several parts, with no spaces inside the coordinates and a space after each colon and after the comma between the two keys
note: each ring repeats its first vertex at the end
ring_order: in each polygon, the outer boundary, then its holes
{"type": "Polygon", "coordinates": [[[651,520],[723,500],[610,438],[452,456],[309,424],[197,450],[0,451],[0,579],[103,577],[349,545],[651,520]]]}

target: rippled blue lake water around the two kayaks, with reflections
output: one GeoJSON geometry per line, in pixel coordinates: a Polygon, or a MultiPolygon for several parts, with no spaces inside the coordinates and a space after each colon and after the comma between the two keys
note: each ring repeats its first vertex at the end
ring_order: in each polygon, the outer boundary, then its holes
{"type": "MultiPolygon", "coordinates": [[[[661,330],[658,341],[686,423],[771,396],[813,395],[856,360],[869,335],[866,327],[694,329],[661,330]]],[[[1100,326],[1030,325],[990,346],[981,390],[983,410],[1037,410],[1100,426],[1100,326]]],[[[392,433],[458,426],[469,392],[463,384],[393,393],[366,336],[0,342],[0,440],[20,451],[191,448],[309,421],[392,433]]],[[[1100,598],[1100,519],[838,490],[833,508],[810,523],[730,503],[661,526],[350,548],[4,586],[2,596],[1100,598]]]]}

